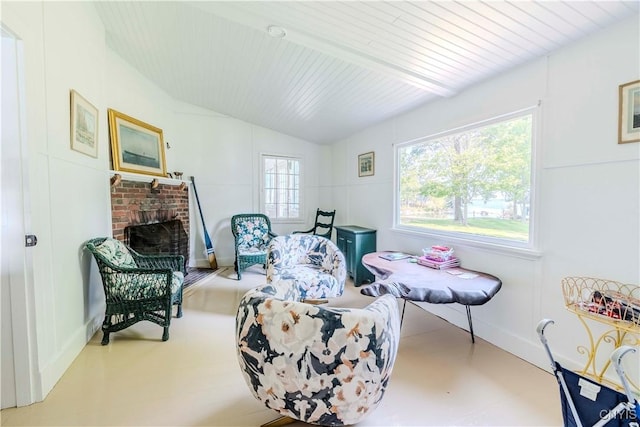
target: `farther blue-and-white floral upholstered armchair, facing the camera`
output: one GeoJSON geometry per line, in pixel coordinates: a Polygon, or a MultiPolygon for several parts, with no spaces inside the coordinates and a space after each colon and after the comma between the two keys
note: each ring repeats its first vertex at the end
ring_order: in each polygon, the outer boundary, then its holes
{"type": "Polygon", "coordinates": [[[329,239],[291,234],[269,243],[267,283],[293,281],[303,299],[322,299],[342,295],[346,279],[344,255],[329,239]]]}

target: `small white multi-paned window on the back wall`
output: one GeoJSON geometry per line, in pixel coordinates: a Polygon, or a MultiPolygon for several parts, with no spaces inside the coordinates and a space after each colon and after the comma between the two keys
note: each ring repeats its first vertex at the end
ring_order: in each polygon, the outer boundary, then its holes
{"type": "Polygon", "coordinates": [[[299,158],[262,155],[262,205],[271,220],[300,218],[300,166],[299,158]]]}

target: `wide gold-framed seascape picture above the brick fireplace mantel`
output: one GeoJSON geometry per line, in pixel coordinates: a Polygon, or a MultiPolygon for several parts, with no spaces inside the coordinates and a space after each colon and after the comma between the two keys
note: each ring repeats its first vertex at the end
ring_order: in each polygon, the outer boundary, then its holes
{"type": "Polygon", "coordinates": [[[109,108],[113,170],[167,176],[162,129],[109,108]]]}

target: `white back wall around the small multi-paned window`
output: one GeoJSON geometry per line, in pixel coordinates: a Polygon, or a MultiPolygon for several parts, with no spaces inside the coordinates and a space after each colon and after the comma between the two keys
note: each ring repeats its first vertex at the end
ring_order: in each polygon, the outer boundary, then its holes
{"type": "MultiPolygon", "coordinates": [[[[231,234],[231,216],[236,213],[260,211],[260,155],[276,154],[302,159],[304,168],[305,223],[274,222],[276,233],[308,228],[315,219],[318,206],[331,206],[330,166],[322,168],[318,159],[328,159],[331,149],[298,138],[284,135],[260,126],[204,110],[192,105],[174,102],[173,123],[176,136],[169,139],[168,150],[176,169],[185,177],[194,176],[198,196],[202,203],[205,224],[216,251],[219,265],[233,265],[235,256],[231,234]],[[311,217],[313,213],[313,218],[311,217]]],[[[193,200],[192,200],[193,202],[193,200]]],[[[202,223],[197,206],[192,203],[192,238],[194,253],[191,259],[206,266],[202,223]]]]}

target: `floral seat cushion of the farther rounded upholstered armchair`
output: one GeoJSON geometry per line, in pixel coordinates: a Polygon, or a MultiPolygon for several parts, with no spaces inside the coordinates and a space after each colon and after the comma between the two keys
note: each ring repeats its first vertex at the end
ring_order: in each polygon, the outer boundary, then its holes
{"type": "Polygon", "coordinates": [[[312,264],[298,264],[280,270],[278,279],[290,281],[301,292],[303,299],[330,298],[342,294],[342,286],[333,275],[312,264]]]}

